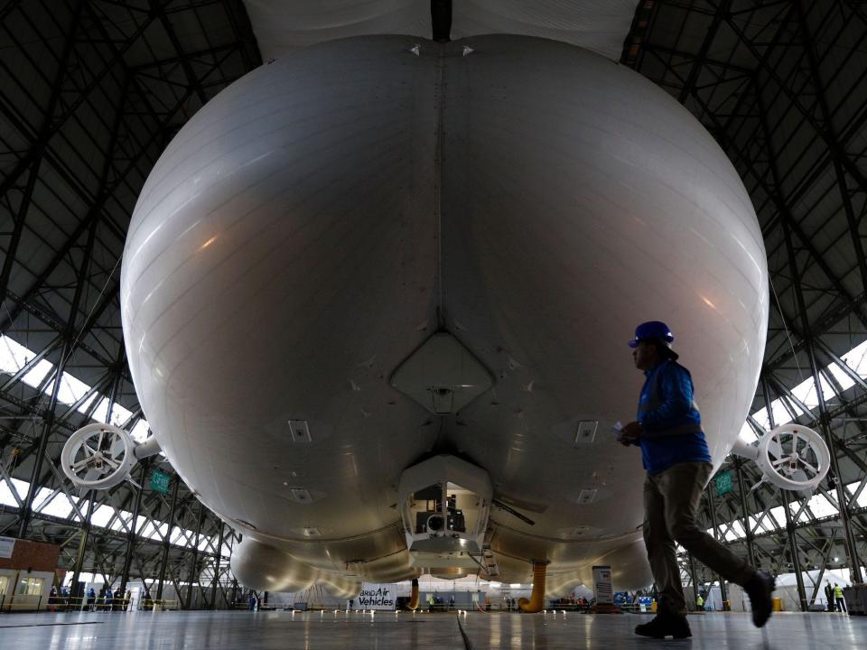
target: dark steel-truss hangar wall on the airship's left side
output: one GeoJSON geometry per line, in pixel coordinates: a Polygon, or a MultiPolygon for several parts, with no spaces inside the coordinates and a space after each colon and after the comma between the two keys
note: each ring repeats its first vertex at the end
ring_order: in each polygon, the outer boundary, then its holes
{"type": "Polygon", "coordinates": [[[143,466],[142,488],[79,495],[58,462],[92,417],[123,406],[131,430],[143,416],[120,326],[126,229],[172,136],[261,64],[246,11],[240,0],[11,1],[0,3],[0,51],[0,332],[35,353],[0,374],[0,483],[17,502],[0,506],[0,534],[59,544],[76,576],[229,607],[237,536],[180,478],[164,497],[143,466]],[[33,385],[44,362],[51,371],[33,385]],[[74,404],[61,400],[63,373],[90,386],[74,404]],[[37,499],[42,488],[50,496],[37,499]],[[44,512],[58,501],[69,517],[44,512]]]}

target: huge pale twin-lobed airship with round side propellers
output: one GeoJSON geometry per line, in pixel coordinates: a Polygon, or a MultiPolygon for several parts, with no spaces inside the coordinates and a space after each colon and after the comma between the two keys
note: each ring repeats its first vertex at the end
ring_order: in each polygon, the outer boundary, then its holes
{"type": "Polygon", "coordinates": [[[767,286],[732,163],[634,71],[517,35],[318,43],[155,165],[121,288],[153,438],[90,425],[63,467],[108,487],[162,449],[251,588],[479,575],[533,610],[598,564],[639,588],[644,473],[612,433],[637,323],[675,331],[715,467],[827,470],[808,430],[739,441],[767,286]]]}

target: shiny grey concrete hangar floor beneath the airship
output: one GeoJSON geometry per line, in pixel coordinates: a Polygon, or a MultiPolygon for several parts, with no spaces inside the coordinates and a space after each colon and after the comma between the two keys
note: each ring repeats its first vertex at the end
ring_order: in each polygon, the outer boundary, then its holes
{"type": "Polygon", "coordinates": [[[0,615],[3,650],[285,650],[304,648],[559,648],[691,650],[857,648],[867,645],[867,617],[778,614],[756,629],[749,615],[689,617],[693,638],[656,641],[632,634],[640,615],[406,614],[374,617],[332,612],[135,612],[0,615]],[[461,632],[462,628],[462,632],[461,632]],[[464,635],[466,635],[464,637],[464,635]]]}

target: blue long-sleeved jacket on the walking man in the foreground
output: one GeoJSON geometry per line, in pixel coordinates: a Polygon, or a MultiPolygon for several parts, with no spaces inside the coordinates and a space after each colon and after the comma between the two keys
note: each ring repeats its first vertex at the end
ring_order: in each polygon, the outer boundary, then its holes
{"type": "Polygon", "coordinates": [[[644,375],[637,417],[644,469],[656,475],[677,463],[711,462],[689,370],[667,359],[644,375]]]}

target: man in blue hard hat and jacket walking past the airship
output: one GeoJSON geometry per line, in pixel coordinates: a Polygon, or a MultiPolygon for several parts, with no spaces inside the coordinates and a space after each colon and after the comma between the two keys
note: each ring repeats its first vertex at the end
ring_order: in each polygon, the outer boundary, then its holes
{"type": "Polygon", "coordinates": [[[693,400],[689,371],[676,363],[671,348],[674,335],[664,322],[639,325],[634,348],[635,367],[646,380],[639,396],[638,419],[620,431],[621,444],[641,448],[644,469],[644,541],[653,578],[659,590],[657,616],[639,625],[640,636],[686,638],[692,636],[686,622],[686,601],[675,544],[744,588],[752,605],[752,622],[762,627],[771,612],[774,580],[701,530],[695,511],[711,478],[711,455],[704,440],[702,419],[693,400]]]}

